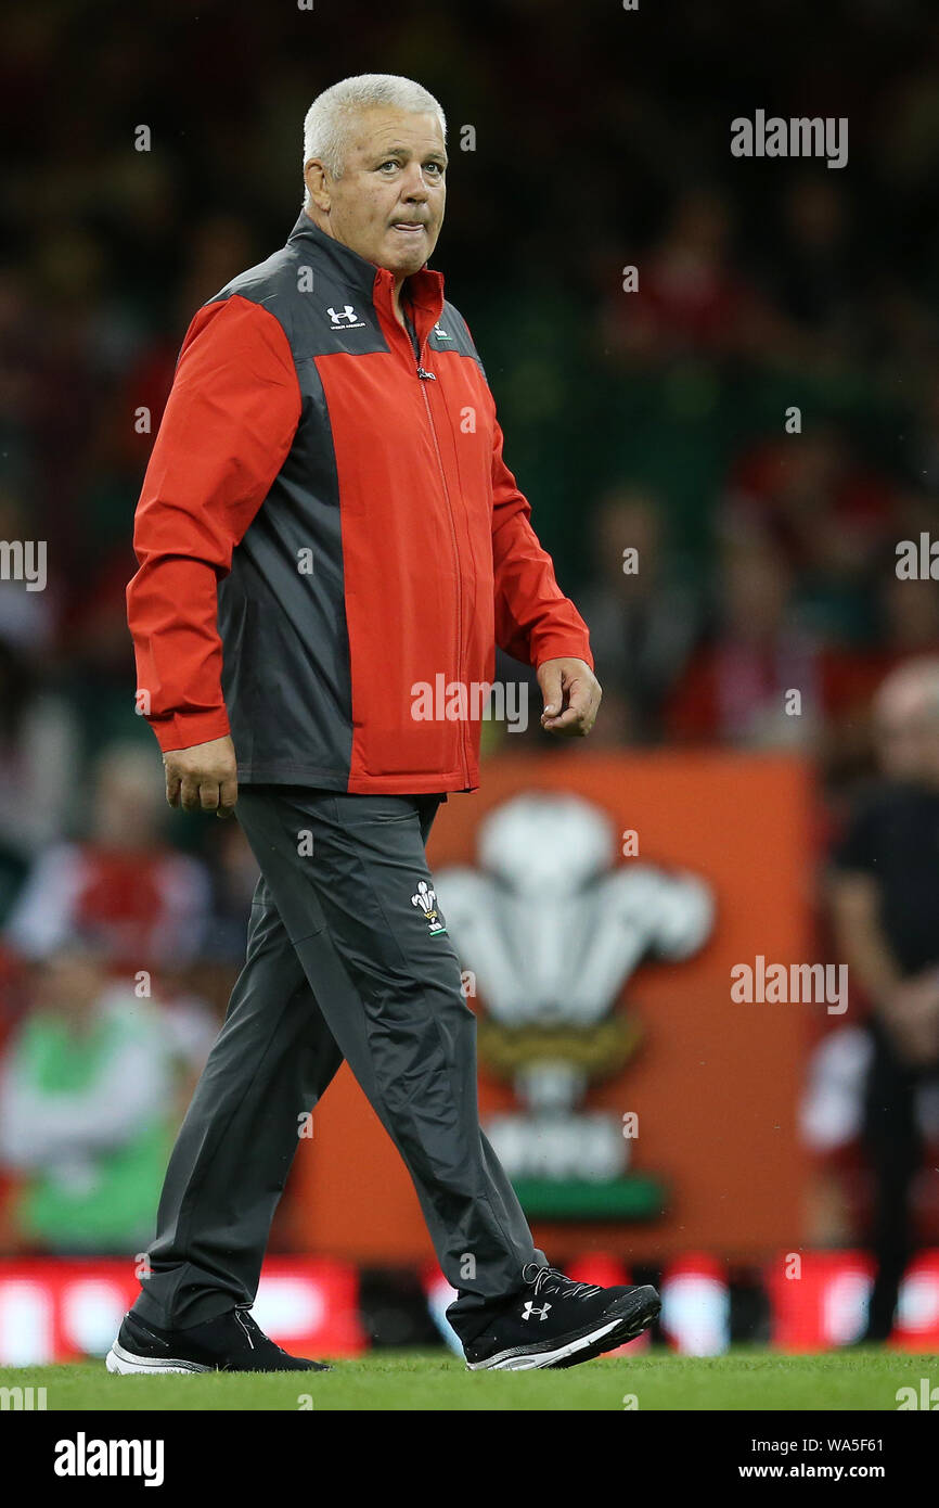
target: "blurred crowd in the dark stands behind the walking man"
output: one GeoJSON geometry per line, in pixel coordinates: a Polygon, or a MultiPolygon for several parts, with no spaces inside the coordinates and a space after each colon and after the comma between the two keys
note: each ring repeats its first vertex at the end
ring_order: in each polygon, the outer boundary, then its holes
{"type": "Polygon", "coordinates": [[[591,627],[591,749],[802,751],[821,870],[877,777],[877,688],[939,654],[939,581],[897,575],[939,537],[930,8],[796,0],[757,35],[678,0],[633,50],[586,3],[576,75],[559,0],[375,9],[2,23],[0,540],[47,540],[48,587],[0,581],[0,1246],[143,1240],[243,956],[253,863],[235,823],[166,820],[124,590],[187,323],[289,234],[327,83],[405,72],[449,113],[434,265],[591,627]],[[733,158],[757,106],[849,116],[850,166],[733,158]]]}

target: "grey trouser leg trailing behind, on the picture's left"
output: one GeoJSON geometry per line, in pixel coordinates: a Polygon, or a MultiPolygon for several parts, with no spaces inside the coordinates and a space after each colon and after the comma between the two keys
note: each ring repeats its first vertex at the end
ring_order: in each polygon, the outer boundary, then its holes
{"type": "Polygon", "coordinates": [[[142,1320],[184,1329],[253,1301],[301,1119],[341,1062],[261,879],[247,961],[166,1172],[142,1320]]]}

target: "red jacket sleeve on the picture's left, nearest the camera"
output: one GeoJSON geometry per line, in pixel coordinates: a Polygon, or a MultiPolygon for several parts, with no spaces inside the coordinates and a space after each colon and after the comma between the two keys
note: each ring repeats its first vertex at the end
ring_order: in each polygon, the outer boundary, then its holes
{"type": "Polygon", "coordinates": [[[137,707],[161,749],[229,731],[219,581],[280,470],[300,422],[288,338],[234,296],[188,327],[134,523],[127,588],[137,707]]]}

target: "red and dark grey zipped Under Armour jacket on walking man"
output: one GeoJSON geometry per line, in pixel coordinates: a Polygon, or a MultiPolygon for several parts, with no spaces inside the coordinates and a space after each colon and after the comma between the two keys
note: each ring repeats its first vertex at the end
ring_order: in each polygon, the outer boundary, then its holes
{"type": "Polygon", "coordinates": [[[402,288],[413,339],[392,288],[301,214],[187,332],[127,590],[164,751],[231,731],[246,783],[475,790],[496,642],[592,668],[443,277],[402,288]],[[414,716],[421,686],[461,715],[414,716]]]}

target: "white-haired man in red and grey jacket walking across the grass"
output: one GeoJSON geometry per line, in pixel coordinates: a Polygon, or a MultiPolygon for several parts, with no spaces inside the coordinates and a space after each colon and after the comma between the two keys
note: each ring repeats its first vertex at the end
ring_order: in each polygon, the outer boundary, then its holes
{"type": "Polygon", "coordinates": [[[320,95],[300,219],[196,314],[154,445],[137,704],[170,805],[237,802],[262,878],[110,1371],[320,1365],[249,1310],[298,1120],[344,1059],[413,1178],[470,1366],[567,1366],[659,1312],[654,1289],[573,1283],[535,1250],[479,1129],[475,1018],[427,864],[439,804],[478,787],[496,641],[537,668],[550,731],[589,733],[600,703],[470,333],[425,265],[445,175],[419,84],[320,95]],[[451,712],[431,719],[437,685],[451,712]]]}

